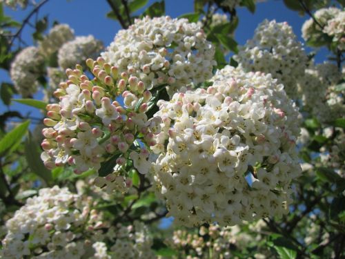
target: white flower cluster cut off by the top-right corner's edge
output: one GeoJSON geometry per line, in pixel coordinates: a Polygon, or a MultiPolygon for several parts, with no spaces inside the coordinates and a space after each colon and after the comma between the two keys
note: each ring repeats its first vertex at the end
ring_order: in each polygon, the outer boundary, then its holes
{"type": "Polygon", "coordinates": [[[338,42],[339,48],[344,50],[344,14],[344,11],[335,7],[317,10],[314,14],[317,23],[311,18],[305,21],[302,26],[303,39],[305,41],[318,41],[318,44],[326,44],[324,38],[324,34],[326,34],[332,37],[333,41],[338,42]]]}

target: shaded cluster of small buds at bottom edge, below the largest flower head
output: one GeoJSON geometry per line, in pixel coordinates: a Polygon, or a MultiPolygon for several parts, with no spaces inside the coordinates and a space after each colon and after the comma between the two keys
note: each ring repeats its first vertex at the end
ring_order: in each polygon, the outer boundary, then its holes
{"type": "MultiPolygon", "coordinates": [[[[179,229],[174,231],[172,240],[166,242],[176,249],[182,257],[186,258],[233,258],[233,251],[243,251],[250,242],[260,240],[260,232],[265,227],[262,220],[248,224],[250,231],[244,232],[238,226],[219,227],[211,224],[201,226],[198,233],[190,233],[179,229]],[[194,257],[193,257],[194,256],[194,257]]],[[[258,258],[255,255],[255,258],[258,258]]]]}

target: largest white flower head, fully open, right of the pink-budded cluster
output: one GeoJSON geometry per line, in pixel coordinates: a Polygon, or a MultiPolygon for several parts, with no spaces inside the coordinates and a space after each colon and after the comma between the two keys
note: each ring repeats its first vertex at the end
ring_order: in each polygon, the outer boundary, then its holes
{"type": "Polygon", "coordinates": [[[295,104],[270,74],[226,66],[213,80],[159,102],[157,195],[185,226],[282,215],[301,171],[295,104]]]}

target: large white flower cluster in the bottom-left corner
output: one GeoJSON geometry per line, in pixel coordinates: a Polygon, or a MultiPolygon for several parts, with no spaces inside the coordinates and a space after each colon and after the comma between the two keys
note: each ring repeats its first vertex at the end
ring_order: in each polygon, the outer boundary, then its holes
{"type": "Polygon", "coordinates": [[[58,186],[39,190],[6,222],[1,258],[81,258],[101,215],[80,195],[58,186]]]}

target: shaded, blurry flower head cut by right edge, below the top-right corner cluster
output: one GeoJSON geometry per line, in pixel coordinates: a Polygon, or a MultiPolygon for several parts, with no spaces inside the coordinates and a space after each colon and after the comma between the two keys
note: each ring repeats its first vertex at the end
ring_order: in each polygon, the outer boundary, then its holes
{"type": "Polygon", "coordinates": [[[304,107],[319,122],[332,122],[344,117],[345,92],[335,88],[341,79],[342,73],[337,66],[328,62],[309,66],[305,75],[299,78],[298,87],[304,107]]]}

